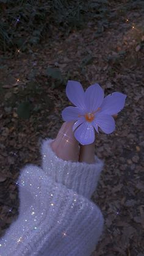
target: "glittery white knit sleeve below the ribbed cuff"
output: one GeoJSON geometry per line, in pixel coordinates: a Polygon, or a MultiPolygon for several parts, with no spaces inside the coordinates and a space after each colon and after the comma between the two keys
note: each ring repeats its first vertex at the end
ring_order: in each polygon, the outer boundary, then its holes
{"type": "Polygon", "coordinates": [[[20,215],[0,240],[1,256],[89,256],[95,250],[104,220],[93,202],[32,164],[21,170],[18,184],[20,215]]]}

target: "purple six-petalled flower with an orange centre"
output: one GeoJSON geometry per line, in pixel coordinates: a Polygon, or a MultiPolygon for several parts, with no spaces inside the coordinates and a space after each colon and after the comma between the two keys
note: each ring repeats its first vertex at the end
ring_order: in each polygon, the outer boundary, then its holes
{"type": "Polygon", "coordinates": [[[82,145],[95,141],[95,130],[99,133],[98,126],[107,134],[115,130],[112,115],[124,108],[127,97],[121,92],[113,92],[104,98],[104,90],[99,84],[89,86],[84,92],[80,82],[71,80],[67,83],[66,94],[76,107],[63,109],[62,118],[65,122],[76,121],[73,125],[73,131],[76,130],[74,137],[82,145]]]}

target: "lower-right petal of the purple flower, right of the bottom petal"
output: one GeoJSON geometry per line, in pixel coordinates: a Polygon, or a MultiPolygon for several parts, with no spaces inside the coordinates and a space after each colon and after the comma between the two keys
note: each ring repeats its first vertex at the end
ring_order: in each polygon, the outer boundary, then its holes
{"type": "Polygon", "coordinates": [[[111,115],[98,113],[96,114],[95,122],[104,133],[109,134],[115,130],[115,120],[111,115]]]}

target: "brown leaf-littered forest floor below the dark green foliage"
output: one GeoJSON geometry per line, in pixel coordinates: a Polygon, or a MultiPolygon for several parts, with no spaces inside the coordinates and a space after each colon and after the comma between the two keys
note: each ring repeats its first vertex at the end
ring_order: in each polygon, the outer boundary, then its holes
{"type": "Polygon", "coordinates": [[[104,233],[92,256],[144,255],[144,34],[142,13],[130,12],[99,37],[95,22],[67,37],[54,29],[31,53],[17,51],[3,60],[0,80],[0,233],[18,216],[20,169],[40,166],[41,139],[54,138],[69,105],[65,86],[51,87],[46,68],[59,68],[65,81],[80,81],[84,89],[98,82],[105,96],[127,95],[112,134],[99,133],[95,153],[104,159],[98,189],[92,196],[104,216],[104,233]],[[128,19],[128,20],[127,20],[128,19]],[[36,88],[36,90],[34,89],[36,88]],[[29,99],[33,111],[27,120],[16,112],[29,99]],[[11,211],[9,211],[11,210],[11,211]]]}

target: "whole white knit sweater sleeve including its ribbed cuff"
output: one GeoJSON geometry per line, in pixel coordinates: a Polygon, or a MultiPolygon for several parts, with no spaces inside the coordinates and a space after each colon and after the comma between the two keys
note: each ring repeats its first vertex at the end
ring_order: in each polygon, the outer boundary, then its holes
{"type": "Polygon", "coordinates": [[[0,239],[0,256],[90,256],[103,232],[101,211],[90,200],[103,161],[64,161],[41,144],[41,167],[27,164],[18,178],[20,214],[0,239]]]}

